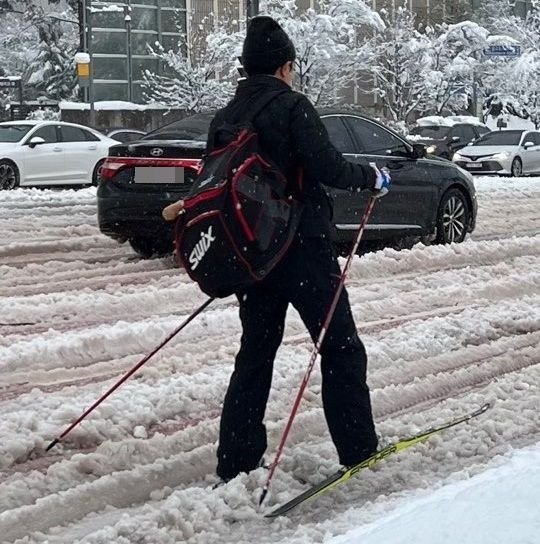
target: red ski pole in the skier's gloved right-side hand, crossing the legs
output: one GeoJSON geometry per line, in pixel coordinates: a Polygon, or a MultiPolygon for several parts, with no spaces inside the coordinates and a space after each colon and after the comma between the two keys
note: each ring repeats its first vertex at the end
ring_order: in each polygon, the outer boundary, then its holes
{"type": "Polygon", "coordinates": [[[313,370],[313,367],[315,366],[315,361],[317,360],[317,356],[319,355],[319,351],[321,349],[322,343],[324,341],[324,338],[326,336],[326,331],[328,330],[328,327],[330,326],[330,322],[332,321],[332,317],[334,316],[334,311],[336,309],[339,297],[341,295],[341,292],[343,291],[343,285],[345,284],[345,279],[347,278],[347,274],[349,273],[349,269],[352,264],[352,260],[354,255],[356,255],[356,252],[358,250],[358,246],[360,245],[360,240],[362,239],[362,235],[364,234],[364,228],[366,226],[366,223],[368,222],[369,216],[371,215],[371,210],[373,210],[373,206],[375,204],[375,197],[370,197],[366,210],[364,212],[364,215],[362,217],[362,220],[360,221],[360,226],[358,227],[358,232],[356,234],[356,238],[354,240],[353,247],[351,249],[351,252],[349,253],[349,256],[347,258],[347,262],[345,263],[345,267],[343,268],[343,272],[341,273],[341,277],[339,280],[339,284],[337,286],[336,292],[334,293],[334,298],[332,299],[332,303],[330,304],[330,308],[326,314],[326,317],[324,319],[323,326],[321,328],[321,331],[319,333],[319,337],[317,338],[317,342],[315,342],[315,346],[313,348],[313,351],[311,352],[311,357],[309,359],[309,364],[306,370],[306,373],[304,374],[304,377],[302,378],[302,382],[300,384],[300,389],[298,390],[298,394],[296,395],[296,399],[294,401],[291,413],[289,415],[289,419],[287,421],[287,424],[285,425],[285,429],[283,430],[283,434],[281,435],[281,440],[279,442],[279,446],[276,451],[276,455],[274,457],[274,460],[272,461],[272,464],[270,465],[270,470],[268,471],[268,477],[266,478],[266,483],[264,484],[263,491],[261,494],[261,498],[259,499],[259,505],[261,505],[268,493],[268,489],[270,488],[270,482],[272,481],[272,478],[274,477],[274,472],[278,466],[279,460],[281,458],[281,454],[283,453],[283,448],[285,447],[285,442],[287,441],[287,437],[289,436],[289,432],[291,430],[294,418],[296,416],[296,412],[298,411],[298,408],[300,406],[300,402],[302,401],[302,396],[304,395],[304,391],[306,389],[306,386],[308,384],[309,378],[311,376],[311,372],[313,370]]]}

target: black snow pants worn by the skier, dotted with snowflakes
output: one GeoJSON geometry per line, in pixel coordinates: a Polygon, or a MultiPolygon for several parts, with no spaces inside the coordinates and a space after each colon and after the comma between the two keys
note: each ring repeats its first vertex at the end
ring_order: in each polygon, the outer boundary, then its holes
{"type": "MultiPolygon", "coordinates": [[[[327,240],[299,239],[265,280],[238,295],[243,333],[221,416],[217,473],[222,478],[253,470],[266,450],[263,418],[287,306],[296,308],[316,341],[340,274],[327,240]]],[[[321,348],[321,370],[324,413],[344,465],[362,461],[377,447],[366,363],[343,290],[321,348]]]]}

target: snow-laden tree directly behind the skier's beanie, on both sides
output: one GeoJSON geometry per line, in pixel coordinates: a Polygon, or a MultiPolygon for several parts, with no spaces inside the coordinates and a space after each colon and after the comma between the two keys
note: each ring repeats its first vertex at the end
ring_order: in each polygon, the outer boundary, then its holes
{"type": "MultiPolygon", "coordinates": [[[[275,17],[293,40],[296,88],[319,106],[335,104],[366,66],[371,33],[361,39],[360,31],[383,28],[380,17],[363,0],[321,0],[317,11],[302,14],[295,0],[269,0],[261,4],[261,14],[275,17]]],[[[245,36],[231,30],[236,26],[220,20],[206,39],[196,29],[175,51],[160,45],[151,48],[170,73],[146,73],[147,99],[187,111],[214,109],[226,102],[234,90],[236,58],[245,36]]],[[[245,28],[245,23],[240,27],[245,28]]]]}

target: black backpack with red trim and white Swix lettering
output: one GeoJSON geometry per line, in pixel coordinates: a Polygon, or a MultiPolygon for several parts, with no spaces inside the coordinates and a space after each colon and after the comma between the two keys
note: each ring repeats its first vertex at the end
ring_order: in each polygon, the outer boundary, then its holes
{"type": "Polygon", "coordinates": [[[216,131],[218,146],[202,163],[176,226],[176,254],[212,297],[226,297],[263,279],[295,235],[301,175],[290,187],[265,156],[255,117],[277,96],[261,97],[245,120],[216,131]]]}

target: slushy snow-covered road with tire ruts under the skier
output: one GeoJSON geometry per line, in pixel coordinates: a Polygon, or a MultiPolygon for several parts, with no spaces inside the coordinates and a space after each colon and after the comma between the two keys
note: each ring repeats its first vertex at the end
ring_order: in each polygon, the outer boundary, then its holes
{"type": "MultiPolygon", "coordinates": [[[[318,543],[538,443],[540,178],[476,185],[465,243],[358,258],[348,289],[385,439],[494,407],[273,521],[256,506],[263,469],[211,490],[240,336],[232,298],[45,452],[205,297],[172,258],[142,261],[102,236],[95,189],[0,192],[0,541],[318,543]]],[[[267,410],[272,446],[310,349],[291,310],[267,410]]],[[[335,469],[316,371],[266,507],[335,469]]]]}

